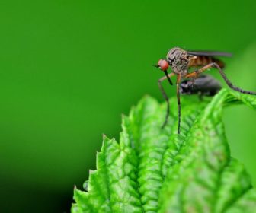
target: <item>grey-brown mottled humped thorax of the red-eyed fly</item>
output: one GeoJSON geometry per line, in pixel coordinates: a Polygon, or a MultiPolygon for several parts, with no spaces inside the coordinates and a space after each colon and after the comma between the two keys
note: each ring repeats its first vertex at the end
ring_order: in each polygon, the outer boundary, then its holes
{"type": "Polygon", "coordinates": [[[187,74],[189,59],[184,49],[178,47],[170,49],[166,59],[174,73],[181,74],[182,76],[187,74]]]}

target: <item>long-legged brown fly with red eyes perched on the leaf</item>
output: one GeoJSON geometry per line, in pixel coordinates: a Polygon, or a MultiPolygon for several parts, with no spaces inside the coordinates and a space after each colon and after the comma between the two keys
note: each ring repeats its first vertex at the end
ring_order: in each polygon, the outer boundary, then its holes
{"type": "MultiPolygon", "coordinates": [[[[222,71],[224,68],[224,62],[220,59],[216,59],[218,56],[223,57],[231,57],[232,54],[228,52],[214,52],[214,51],[186,51],[179,47],[174,47],[169,50],[167,53],[166,59],[160,59],[158,61],[158,65],[155,65],[156,68],[159,68],[162,72],[165,73],[165,76],[158,80],[158,86],[160,91],[162,92],[163,97],[167,102],[167,111],[165,116],[165,122],[163,122],[162,128],[168,122],[168,115],[170,111],[169,99],[168,95],[165,92],[164,87],[162,86],[162,81],[168,80],[169,84],[173,85],[171,81],[171,77],[174,75],[177,76],[176,79],[176,94],[177,94],[177,102],[178,102],[178,134],[181,132],[181,100],[180,94],[186,94],[187,92],[190,94],[195,94],[196,91],[210,91],[210,82],[213,83],[213,78],[208,78],[210,81],[207,83],[206,80],[201,78],[201,74],[210,68],[216,68],[219,71],[219,74],[222,76],[226,84],[235,91],[238,91],[243,94],[254,94],[252,91],[245,91],[239,87],[236,87],[232,84],[231,81],[226,77],[226,74],[222,71]],[[172,72],[168,74],[167,70],[171,67],[172,72]],[[190,68],[197,68],[194,71],[190,71],[190,68]],[[184,79],[191,79],[191,81],[184,79]],[[203,81],[203,84],[197,85],[199,89],[193,88],[193,82],[197,82],[199,84],[199,80],[203,81]],[[189,83],[188,83],[189,82],[189,83]],[[188,86],[190,84],[190,86],[188,86]],[[188,86],[188,91],[186,92],[185,86],[188,86]]],[[[213,85],[213,94],[215,93],[217,87],[213,85]]]]}

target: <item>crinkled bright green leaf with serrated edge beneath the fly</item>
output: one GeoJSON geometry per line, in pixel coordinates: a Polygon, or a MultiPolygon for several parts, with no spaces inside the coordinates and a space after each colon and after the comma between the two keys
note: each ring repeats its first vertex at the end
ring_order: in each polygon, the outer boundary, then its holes
{"type": "Polygon", "coordinates": [[[120,143],[104,136],[88,192],[75,188],[72,212],[255,212],[256,191],[241,163],[230,156],[223,106],[256,97],[222,89],[213,99],[176,100],[161,129],[165,103],[144,97],[123,116],[120,143]]]}

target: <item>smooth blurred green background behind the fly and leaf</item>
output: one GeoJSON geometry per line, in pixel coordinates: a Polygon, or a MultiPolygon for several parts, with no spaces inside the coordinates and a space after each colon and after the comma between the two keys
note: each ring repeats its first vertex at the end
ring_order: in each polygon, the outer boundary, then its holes
{"type": "MultiPolygon", "coordinates": [[[[246,0],[1,1],[0,211],[69,212],[102,133],[119,138],[121,113],[144,94],[162,101],[152,65],[171,47],[233,52],[227,75],[256,91],[255,9],[246,0]]],[[[233,106],[224,119],[232,156],[256,183],[256,113],[233,106]]]]}

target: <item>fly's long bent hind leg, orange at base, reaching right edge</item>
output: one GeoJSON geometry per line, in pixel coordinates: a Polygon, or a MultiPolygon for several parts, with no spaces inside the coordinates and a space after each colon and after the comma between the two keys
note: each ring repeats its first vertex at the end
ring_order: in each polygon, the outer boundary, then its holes
{"type": "Polygon", "coordinates": [[[215,67],[215,68],[217,68],[219,70],[219,74],[222,76],[224,81],[226,81],[226,84],[228,84],[228,86],[230,88],[232,88],[232,90],[238,91],[238,92],[240,92],[242,94],[256,94],[256,92],[244,91],[243,89],[241,89],[239,87],[235,87],[235,85],[233,85],[231,83],[231,81],[229,81],[229,79],[226,77],[226,74],[222,71],[222,68],[220,68],[219,65],[216,64],[216,63],[210,63],[209,65],[206,65],[203,68],[200,68],[200,69],[198,69],[195,72],[191,72],[191,73],[187,74],[185,77],[186,78],[194,78],[194,77],[197,78],[197,76],[200,75],[200,73],[205,72],[207,69],[213,68],[213,67],[215,67]]]}

